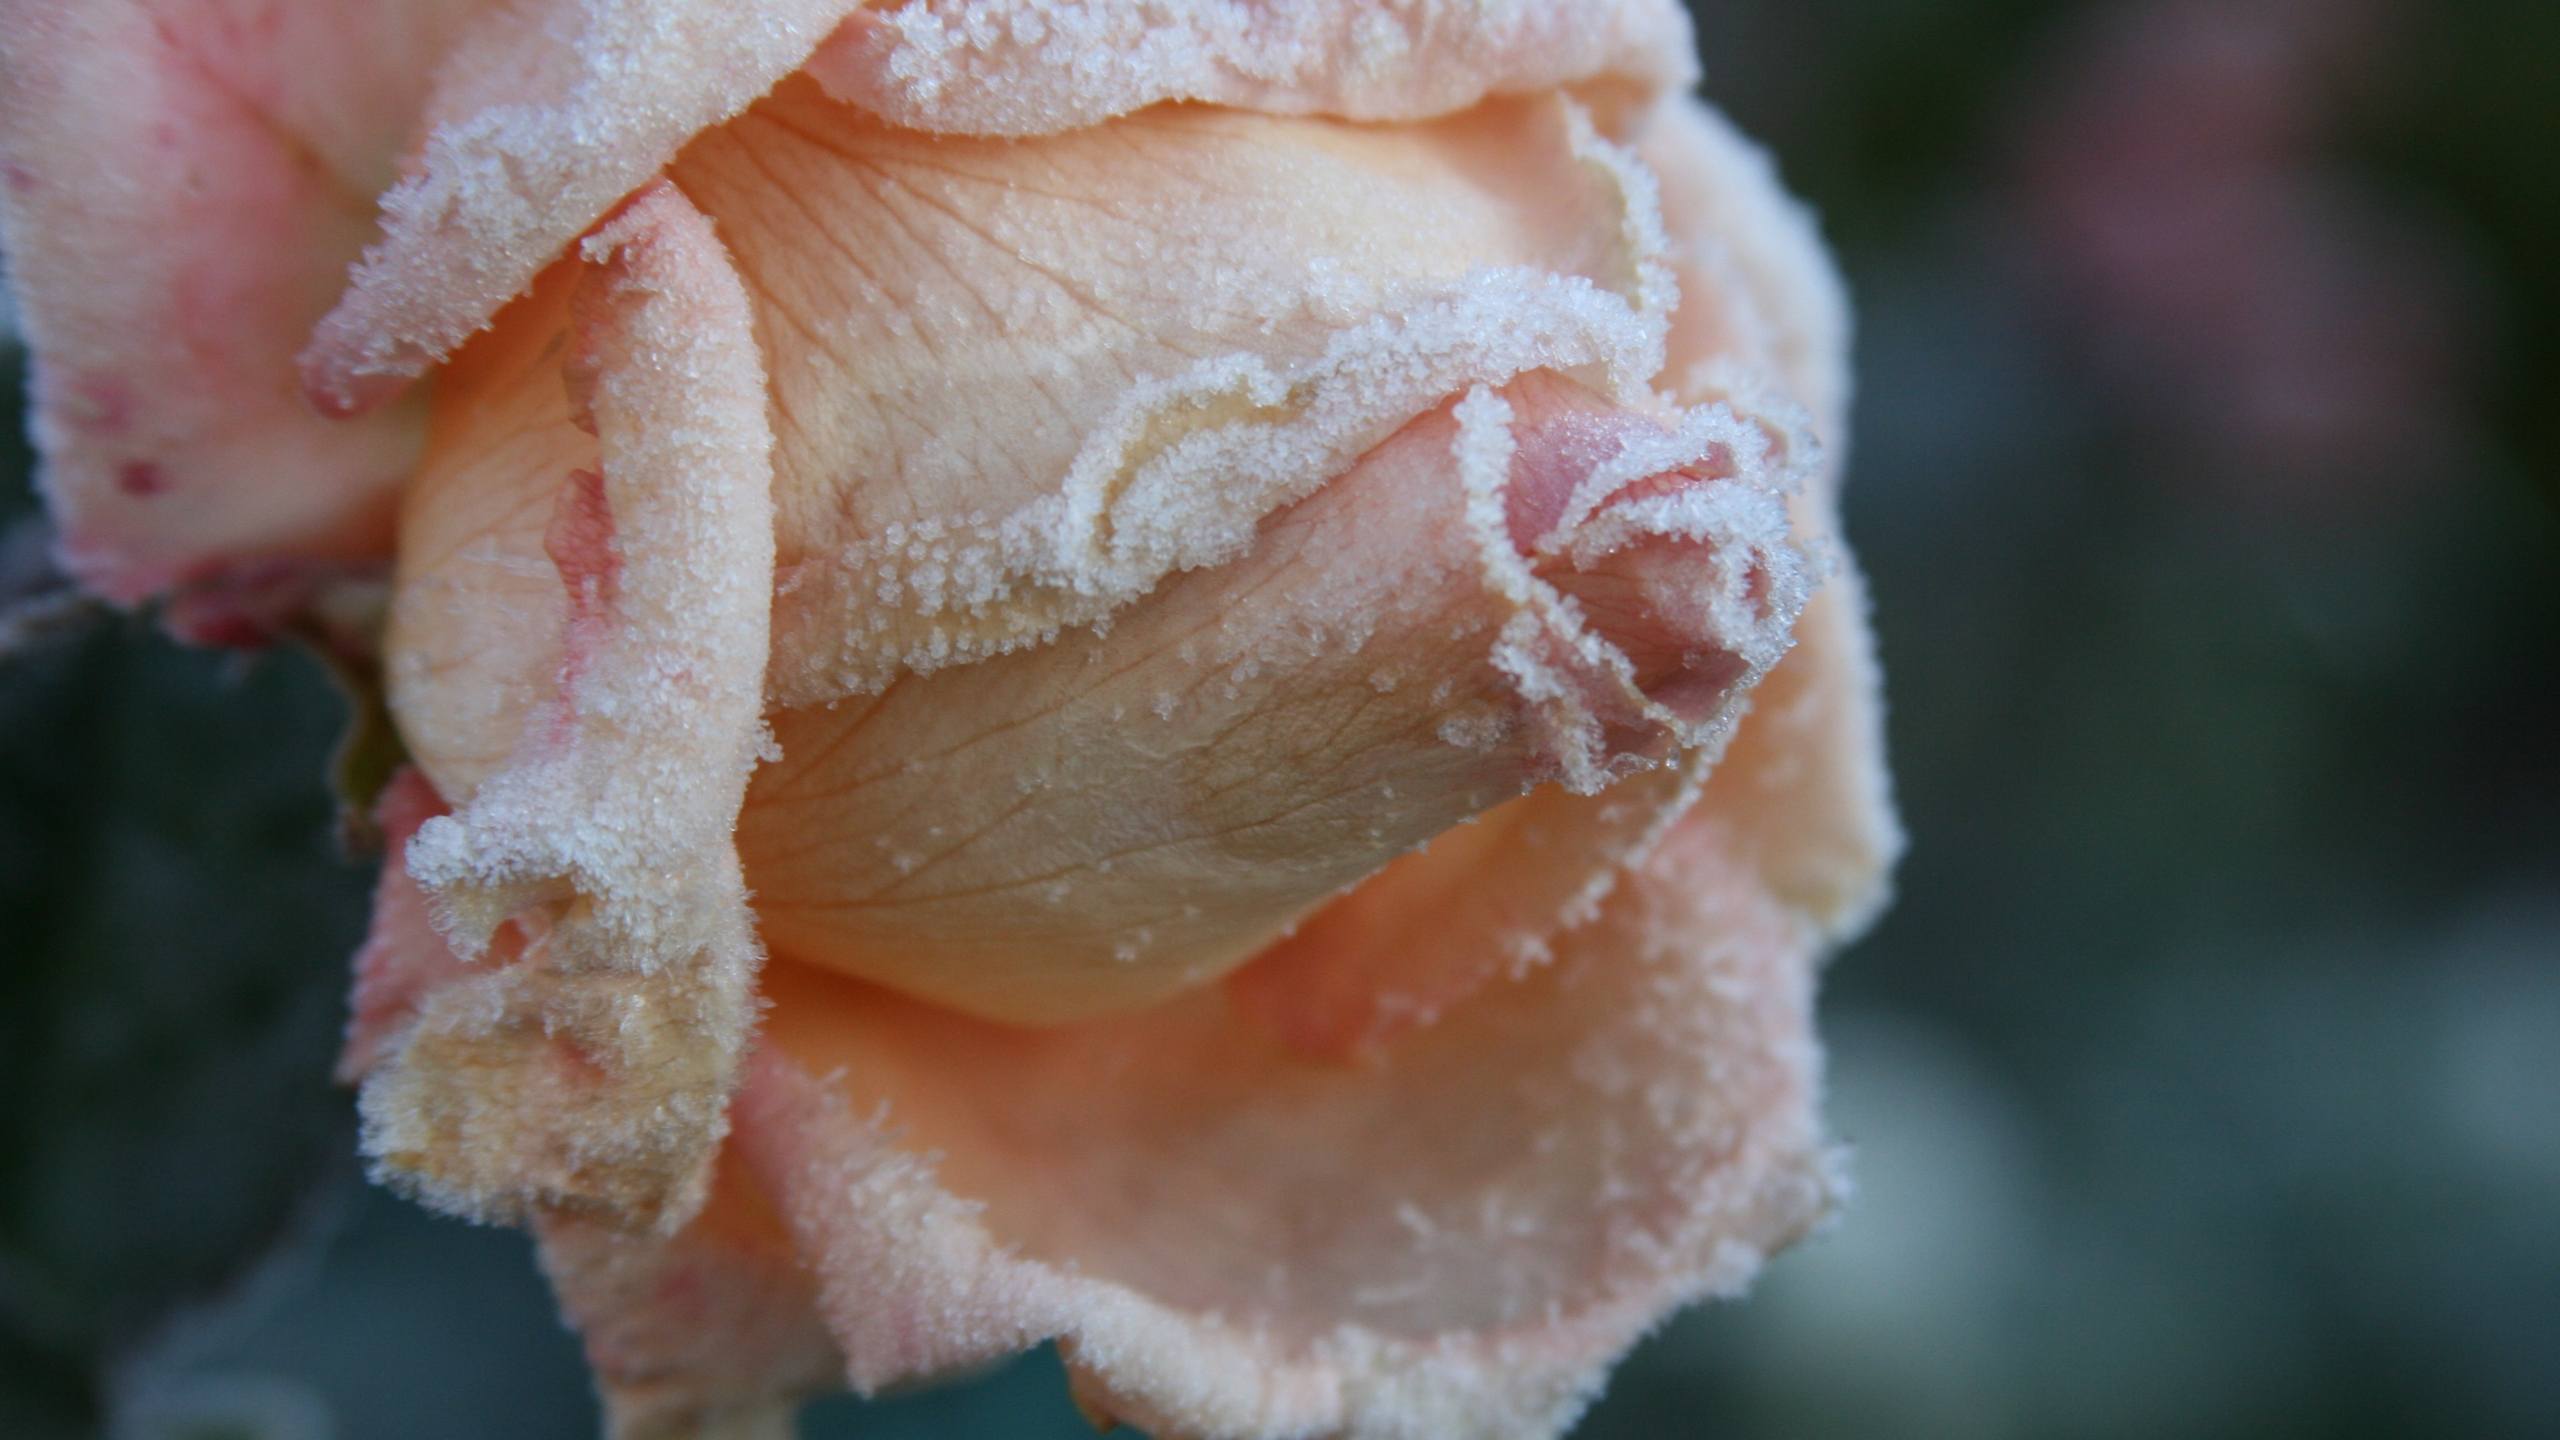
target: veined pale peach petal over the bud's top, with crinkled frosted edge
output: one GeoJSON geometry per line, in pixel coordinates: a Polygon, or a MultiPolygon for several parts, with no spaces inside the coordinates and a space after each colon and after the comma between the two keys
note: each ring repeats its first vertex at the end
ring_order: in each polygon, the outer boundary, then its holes
{"type": "Polygon", "coordinates": [[[673,174],[776,356],[786,705],[1231,559],[1472,382],[1646,405],[1672,302],[1651,182],[1556,100],[957,141],[786,85],[673,174]]]}

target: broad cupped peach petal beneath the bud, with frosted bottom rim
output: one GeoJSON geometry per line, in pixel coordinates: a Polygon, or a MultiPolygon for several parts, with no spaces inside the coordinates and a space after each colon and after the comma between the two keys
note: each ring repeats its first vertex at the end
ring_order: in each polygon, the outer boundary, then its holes
{"type": "Polygon", "coordinates": [[[1216,992],[1024,1033],[776,963],[737,1153],[858,1389],[1057,1335],[1157,1435],[1549,1437],[1820,1215],[1810,948],[1687,828],[1357,1066],[1216,992]]]}

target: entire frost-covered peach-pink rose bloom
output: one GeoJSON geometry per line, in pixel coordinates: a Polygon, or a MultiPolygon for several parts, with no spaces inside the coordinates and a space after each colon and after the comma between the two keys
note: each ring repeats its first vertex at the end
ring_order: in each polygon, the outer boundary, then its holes
{"type": "Polygon", "coordinates": [[[1549,1435],[1823,1209],[1894,848],[1843,320],[1687,54],[13,15],[64,559],[253,643],[397,556],[346,1068],[620,1432],[1060,1338],[1160,1435],[1549,1435]]]}

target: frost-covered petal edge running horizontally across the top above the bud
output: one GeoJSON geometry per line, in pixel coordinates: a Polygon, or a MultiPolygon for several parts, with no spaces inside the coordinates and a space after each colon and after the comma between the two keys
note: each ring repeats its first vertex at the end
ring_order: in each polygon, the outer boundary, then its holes
{"type": "Polygon", "coordinates": [[[1162,100],[1421,120],[1485,95],[1697,79],[1669,0],[909,0],[812,56],[829,92],[914,131],[1044,136],[1162,100]]]}

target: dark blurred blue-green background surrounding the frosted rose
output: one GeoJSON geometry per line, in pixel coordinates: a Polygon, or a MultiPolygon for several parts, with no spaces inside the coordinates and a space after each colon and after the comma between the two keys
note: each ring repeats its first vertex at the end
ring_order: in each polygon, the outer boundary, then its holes
{"type": "MultiPolygon", "coordinates": [[[[1912,853],[1825,994],[1853,1207],[1580,1435],[2560,1435],[2560,5],[1700,31],[1859,297],[1912,853]]],[[[0,1435],[589,1435],[527,1245],[348,1158],[325,679],[18,651],[0,1435]]],[[[1047,1355],[804,1422],[1073,1435],[1047,1355]]]]}

